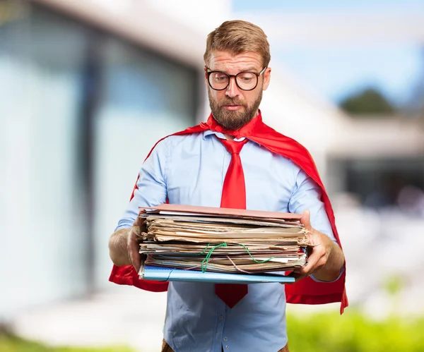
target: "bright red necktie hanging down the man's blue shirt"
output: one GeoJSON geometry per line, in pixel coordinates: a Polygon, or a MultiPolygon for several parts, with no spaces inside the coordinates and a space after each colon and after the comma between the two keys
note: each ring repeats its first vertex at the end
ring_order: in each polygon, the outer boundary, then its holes
{"type": "MultiPolygon", "coordinates": [[[[227,174],[225,174],[220,207],[246,209],[245,174],[243,174],[240,150],[246,144],[247,138],[242,142],[218,139],[231,153],[230,165],[227,174]]],[[[247,295],[247,285],[215,284],[215,293],[228,307],[232,308],[247,295]]]]}

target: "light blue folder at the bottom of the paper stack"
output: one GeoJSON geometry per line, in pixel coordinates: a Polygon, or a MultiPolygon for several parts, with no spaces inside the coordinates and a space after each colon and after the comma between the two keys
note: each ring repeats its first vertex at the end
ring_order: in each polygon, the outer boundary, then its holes
{"type": "Polygon", "coordinates": [[[141,269],[141,279],[151,281],[197,281],[216,284],[259,284],[264,282],[295,282],[294,277],[283,274],[232,274],[225,272],[200,272],[145,265],[141,269]]]}

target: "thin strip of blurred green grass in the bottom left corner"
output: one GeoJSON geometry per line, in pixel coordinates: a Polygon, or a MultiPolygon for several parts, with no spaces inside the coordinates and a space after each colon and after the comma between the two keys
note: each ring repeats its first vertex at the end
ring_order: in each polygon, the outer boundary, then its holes
{"type": "Polygon", "coordinates": [[[76,348],[76,347],[47,347],[37,342],[25,341],[10,334],[0,334],[1,352],[134,352],[125,347],[110,348],[76,348]]]}

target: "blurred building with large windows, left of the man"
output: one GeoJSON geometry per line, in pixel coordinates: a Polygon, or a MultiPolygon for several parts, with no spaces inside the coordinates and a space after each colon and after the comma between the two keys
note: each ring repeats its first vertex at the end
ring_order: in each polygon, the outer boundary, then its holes
{"type": "Polygon", "coordinates": [[[109,285],[107,238],[148,150],[203,116],[204,38],[146,1],[11,0],[0,43],[7,320],[109,285]]]}

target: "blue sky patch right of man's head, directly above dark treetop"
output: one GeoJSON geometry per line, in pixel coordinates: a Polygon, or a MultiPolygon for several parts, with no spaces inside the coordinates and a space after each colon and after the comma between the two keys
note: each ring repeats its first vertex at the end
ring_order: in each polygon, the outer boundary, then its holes
{"type": "Polygon", "coordinates": [[[424,47],[413,44],[277,49],[273,55],[334,102],[372,86],[402,104],[424,69],[424,47]]]}

